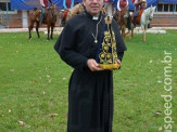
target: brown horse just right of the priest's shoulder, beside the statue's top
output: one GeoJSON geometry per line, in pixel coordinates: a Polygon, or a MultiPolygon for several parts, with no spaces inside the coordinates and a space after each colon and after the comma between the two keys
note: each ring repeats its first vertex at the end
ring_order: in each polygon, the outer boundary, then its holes
{"type": "Polygon", "coordinates": [[[116,12],[113,17],[117,22],[118,29],[121,30],[122,37],[125,40],[126,35],[129,32],[126,32],[126,27],[128,26],[128,16],[129,11],[128,8],[125,6],[121,11],[116,12]]]}

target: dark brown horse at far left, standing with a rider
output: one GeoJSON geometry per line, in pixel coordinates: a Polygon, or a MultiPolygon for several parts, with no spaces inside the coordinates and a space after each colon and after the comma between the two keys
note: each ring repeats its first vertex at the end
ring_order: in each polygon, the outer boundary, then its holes
{"type": "MultiPolygon", "coordinates": [[[[55,26],[55,22],[56,22],[56,14],[58,10],[56,10],[56,5],[52,4],[51,8],[46,8],[45,9],[45,15],[43,15],[43,21],[41,22],[42,24],[47,25],[47,29],[48,29],[48,37],[47,39],[53,39],[53,28],[55,26]],[[50,37],[49,37],[50,36],[50,37]]],[[[31,29],[34,27],[34,24],[36,23],[36,32],[38,38],[40,38],[39,35],[39,23],[40,23],[40,18],[41,18],[41,9],[35,9],[33,11],[29,11],[29,26],[28,26],[28,31],[29,31],[29,39],[31,39],[31,29]]]]}

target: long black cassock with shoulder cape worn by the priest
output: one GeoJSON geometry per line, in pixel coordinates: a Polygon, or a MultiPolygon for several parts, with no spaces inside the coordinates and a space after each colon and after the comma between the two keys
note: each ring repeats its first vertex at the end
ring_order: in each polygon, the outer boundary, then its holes
{"type": "MultiPolygon", "coordinates": [[[[71,18],[54,49],[61,58],[74,68],[68,84],[68,120],[67,132],[112,132],[113,121],[113,74],[111,70],[90,71],[88,58],[96,58],[100,41],[104,15],[99,19],[84,12],[71,18]]],[[[122,60],[126,47],[113,21],[113,29],[117,43],[117,53],[122,60]]]]}

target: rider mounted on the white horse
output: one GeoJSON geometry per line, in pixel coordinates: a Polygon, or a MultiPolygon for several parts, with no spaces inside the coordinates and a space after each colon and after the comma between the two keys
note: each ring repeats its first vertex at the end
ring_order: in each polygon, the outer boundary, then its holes
{"type": "Polygon", "coordinates": [[[135,4],[134,26],[136,26],[136,17],[138,16],[138,13],[141,9],[146,9],[147,0],[132,0],[132,3],[135,4]]]}

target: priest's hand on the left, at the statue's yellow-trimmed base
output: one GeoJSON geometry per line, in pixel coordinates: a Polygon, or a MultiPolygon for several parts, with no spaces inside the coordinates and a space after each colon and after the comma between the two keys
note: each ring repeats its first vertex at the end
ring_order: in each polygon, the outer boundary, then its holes
{"type": "Polygon", "coordinates": [[[91,71],[100,71],[103,70],[102,68],[99,67],[99,64],[96,62],[96,60],[89,58],[87,61],[87,66],[91,71]]]}

